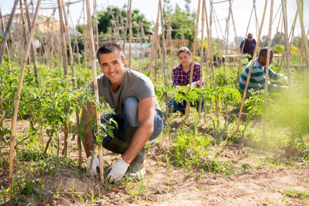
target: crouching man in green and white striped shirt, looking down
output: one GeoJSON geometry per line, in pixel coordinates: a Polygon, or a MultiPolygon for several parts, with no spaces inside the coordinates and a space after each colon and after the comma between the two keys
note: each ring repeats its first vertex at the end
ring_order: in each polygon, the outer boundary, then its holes
{"type": "MultiPolygon", "coordinates": [[[[246,81],[248,73],[253,61],[252,73],[250,75],[248,90],[253,89],[253,91],[264,89],[265,86],[265,72],[266,72],[266,59],[267,59],[267,47],[264,47],[260,50],[259,57],[254,61],[251,60],[248,65],[245,67],[241,76],[239,78],[239,91],[244,91],[246,86],[246,81]]],[[[269,64],[273,62],[273,51],[270,49],[270,59],[269,64]]],[[[269,78],[270,79],[279,79],[281,85],[283,82],[287,84],[287,77],[283,74],[278,74],[269,68],[269,78]]],[[[268,91],[269,92],[285,92],[289,87],[280,86],[277,84],[272,84],[268,82],[268,91]]]]}

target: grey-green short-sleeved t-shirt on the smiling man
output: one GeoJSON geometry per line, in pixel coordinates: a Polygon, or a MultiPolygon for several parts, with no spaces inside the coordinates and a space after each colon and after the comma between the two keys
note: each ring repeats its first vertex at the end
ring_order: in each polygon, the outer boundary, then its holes
{"type": "MultiPolygon", "coordinates": [[[[144,74],[125,68],[125,76],[122,79],[120,88],[113,92],[109,80],[104,74],[97,77],[99,97],[104,97],[104,100],[109,106],[114,109],[115,113],[123,117],[123,104],[126,98],[135,97],[138,101],[147,97],[155,97],[155,110],[164,117],[163,111],[160,109],[155,89],[151,80],[144,74]]],[[[93,82],[88,87],[93,89],[93,82]]]]}

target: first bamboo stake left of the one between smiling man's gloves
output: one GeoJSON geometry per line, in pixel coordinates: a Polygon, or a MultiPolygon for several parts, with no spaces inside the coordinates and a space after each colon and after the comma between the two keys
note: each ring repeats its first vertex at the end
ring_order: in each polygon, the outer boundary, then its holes
{"type": "MultiPolygon", "coordinates": [[[[62,9],[63,9],[63,16],[64,16],[64,20],[65,20],[65,24],[66,24],[66,39],[67,39],[67,43],[69,46],[69,54],[70,54],[70,65],[71,65],[71,73],[72,73],[72,81],[73,81],[73,89],[76,88],[76,78],[75,78],[75,70],[74,70],[74,62],[73,62],[73,52],[72,52],[72,46],[71,46],[71,40],[70,40],[70,30],[69,30],[69,24],[68,24],[68,19],[66,16],[66,7],[64,5],[64,0],[61,0],[61,4],[62,4],[62,9]]],[[[77,94],[76,92],[74,92],[75,95],[75,107],[78,106],[78,102],[77,102],[77,94]]],[[[76,127],[79,128],[79,113],[78,110],[75,109],[75,114],[76,114],[76,127]]],[[[79,137],[79,135],[77,135],[77,147],[78,147],[78,166],[82,167],[82,144],[81,144],[81,139],[79,137]]],[[[64,153],[66,155],[66,150],[64,150],[64,153]]]]}

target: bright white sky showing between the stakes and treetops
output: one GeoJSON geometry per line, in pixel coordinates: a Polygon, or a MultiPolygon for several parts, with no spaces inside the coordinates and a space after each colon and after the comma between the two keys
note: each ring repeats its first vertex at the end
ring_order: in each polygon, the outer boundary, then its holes
{"type": "MultiPolygon", "coordinates": [[[[28,3],[30,1],[31,0],[28,0],[28,3]]],[[[36,1],[37,0],[34,0],[35,3],[36,3],[36,1]]],[[[74,1],[78,1],[78,0],[70,0],[70,2],[74,2],[74,1]]],[[[213,6],[214,6],[214,11],[217,14],[217,17],[219,19],[219,23],[220,23],[220,26],[222,28],[222,32],[224,33],[224,29],[226,27],[226,21],[220,20],[220,19],[227,18],[229,2],[215,3],[215,2],[221,2],[221,1],[222,0],[213,0],[213,3],[214,3],[213,6]]],[[[0,7],[1,7],[3,15],[11,13],[13,2],[14,2],[13,0],[7,0],[7,1],[1,0],[0,1],[0,7]]],[[[68,2],[68,0],[65,0],[65,2],[68,2]]],[[[175,5],[176,5],[176,2],[178,3],[178,5],[181,8],[184,9],[184,5],[185,5],[184,0],[170,0],[170,5],[174,8],[175,5]]],[[[41,8],[51,7],[51,3],[53,3],[53,5],[55,5],[55,6],[57,5],[56,0],[50,0],[50,1],[43,0],[42,4],[41,4],[41,8]]],[[[109,1],[108,0],[97,0],[98,11],[100,11],[103,8],[106,8],[108,5],[114,5],[114,6],[122,7],[124,4],[127,4],[127,3],[128,3],[128,0],[113,0],[113,1],[111,1],[111,0],[109,0],[109,1]]],[[[263,25],[263,29],[262,29],[262,35],[268,35],[270,3],[271,3],[271,0],[268,0],[264,25],[263,25]]],[[[92,0],[90,0],[90,4],[91,4],[91,12],[93,12],[93,1],[92,0]]],[[[264,0],[256,0],[256,15],[257,15],[259,25],[261,24],[264,5],[265,5],[264,0]]],[[[281,0],[274,0],[273,18],[275,17],[280,5],[281,5],[281,0]]],[[[195,11],[197,11],[197,6],[198,6],[198,0],[191,0],[191,3],[190,3],[191,10],[194,9],[195,11]]],[[[208,15],[209,15],[210,14],[210,0],[206,0],[206,6],[207,6],[207,12],[208,12],[208,15]]],[[[236,28],[237,36],[244,36],[245,35],[246,29],[247,29],[247,26],[248,26],[248,22],[249,22],[250,13],[251,13],[251,10],[252,10],[252,6],[253,6],[252,0],[234,0],[232,2],[232,12],[233,12],[233,15],[234,15],[235,28],[236,28]]],[[[70,10],[71,16],[73,18],[74,24],[77,24],[77,21],[78,21],[78,18],[80,16],[80,13],[82,11],[82,8],[83,8],[83,2],[79,2],[79,3],[75,3],[75,4],[70,5],[69,10],[70,10]]],[[[156,19],[156,15],[157,15],[157,11],[158,11],[158,1],[132,0],[132,8],[140,10],[146,16],[146,18],[148,20],[154,21],[156,19]]],[[[291,25],[292,25],[293,20],[294,20],[296,10],[297,10],[296,0],[288,0],[287,1],[287,15],[288,15],[288,31],[289,32],[290,32],[291,25]]],[[[18,12],[18,13],[20,12],[19,6],[16,9],[16,12],[18,12]]],[[[280,12],[281,12],[281,8],[280,8],[280,11],[278,12],[278,14],[276,16],[276,19],[274,20],[274,23],[273,23],[272,36],[274,36],[274,34],[277,30],[280,12]]],[[[40,11],[41,15],[46,15],[46,16],[51,15],[51,13],[52,13],[51,9],[49,9],[49,10],[43,9],[43,10],[40,11]]],[[[57,18],[57,15],[56,15],[56,18],[57,18]]],[[[303,20],[304,20],[305,30],[307,32],[308,28],[309,28],[309,1],[307,1],[307,0],[304,0],[303,15],[304,15],[303,20]]],[[[215,19],[216,19],[216,17],[215,17],[215,19]]],[[[80,23],[82,24],[83,21],[81,21],[80,23]]],[[[216,22],[216,24],[217,24],[219,38],[222,39],[221,32],[219,31],[218,22],[216,22]]],[[[214,26],[215,26],[215,24],[213,23],[212,36],[217,37],[217,33],[216,33],[214,26]]],[[[200,28],[201,28],[201,20],[199,20],[199,30],[200,30],[200,28]]],[[[279,31],[280,30],[281,30],[281,24],[279,25],[279,31]]],[[[282,31],[284,32],[284,28],[283,28],[282,31]]],[[[253,14],[252,14],[251,23],[250,23],[248,32],[253,33],[253,38],[257,37],[258,31],[256,31],[256,20],[255,20],[254,11],[253,11],[253,14]]],[[[299,22],[299,19],[297,19],[294,35],[300,36],[300,33],[301,33],[300,22],[299,22]]],[[[232,22],[230,23],[229,34],[230,34],[230,39],[233,41],[233,38],[234,38],[235,35],[234,35],[232,22]]],[[[205,32],[204,32],[204,35],[206,35],[205,32]]]]}

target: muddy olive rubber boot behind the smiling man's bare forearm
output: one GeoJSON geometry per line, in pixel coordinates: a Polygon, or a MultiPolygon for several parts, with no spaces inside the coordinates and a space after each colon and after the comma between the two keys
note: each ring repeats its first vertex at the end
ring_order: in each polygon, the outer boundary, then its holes
{"type": "MultiPolygon", "coordinates": [[[[126,135],[128,145],[131,143],[133,135],[135,134],[137,129],[138,127],[131,127],[131,126],[125,125],[125,135],[126,135]]],[[[146,170],[145,170],[145,165],[144,165],[144,156],[145,156],[145,146],[142,148],[140,152],[138,152],[137,156],[130,163],[130,166],[128,168],[128,171],[126,172],[126,175],[128,175],[129,177],[135,178],[137,180],[140,180],[141,178],[145,176],[146,170]]]]}

